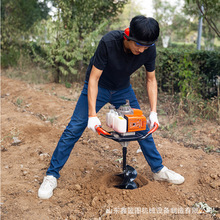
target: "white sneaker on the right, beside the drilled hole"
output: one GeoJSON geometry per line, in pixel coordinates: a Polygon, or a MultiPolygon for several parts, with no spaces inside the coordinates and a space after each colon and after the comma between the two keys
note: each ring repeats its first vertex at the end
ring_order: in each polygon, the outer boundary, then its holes
{"type": "Polygon", "coordinates": [[[182,184],[185,178],[180,174],[163,167],[159,172],[153,174],[153,178],[158,181],[167,181],[173,184],[182,184]]]}

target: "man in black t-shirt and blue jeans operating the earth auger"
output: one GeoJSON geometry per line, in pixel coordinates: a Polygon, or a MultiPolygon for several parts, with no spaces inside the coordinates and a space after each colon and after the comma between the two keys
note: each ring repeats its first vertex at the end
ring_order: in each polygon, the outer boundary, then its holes
{"type": "MultiPolygon", "coordinates": [[[[111,31],[99,42],[86,72],[86,82],[75,111],[63,132],[51,158],[47,176],[38,190],[38,196],[48,199],[57,186],[59,171],[66,163],[74,144],[78,141],[86,126],[94,132],[101,125],[97,112],[106,104],[116,109],[129,100],[132,108],[140,109],[134,91],[130,85],[130,75],[142,65],[146,68],[147,92],[151,107],[150,129],[157,119],[157,81],[155,77],[155,42],[159,36],[159,25],[153,18],[136,16],[130,22],[130,28],[123,31],[111,31]]],[[[158,123],[159,124],[159,123],[158,123]]],[[[149,131],[141,133],[146,134],[149,131]]],[[[152,136],[139,141],[140,147],[153,172],[155,180],[174,184],[184,182],[184,177],[162,165],[162,158],[156,149],[152,136]]]]}

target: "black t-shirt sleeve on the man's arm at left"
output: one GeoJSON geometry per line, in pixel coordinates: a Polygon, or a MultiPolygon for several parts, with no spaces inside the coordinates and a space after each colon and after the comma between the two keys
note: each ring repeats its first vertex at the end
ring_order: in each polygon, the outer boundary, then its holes
{"type": "Polygon", "coordinates": [[[104,70],[107,61],[108,61],[108,53],[107,53],[106,44],[104,43],[103,40],[101,40],[94,54],[93,65],[99,70],[104,70]]]}

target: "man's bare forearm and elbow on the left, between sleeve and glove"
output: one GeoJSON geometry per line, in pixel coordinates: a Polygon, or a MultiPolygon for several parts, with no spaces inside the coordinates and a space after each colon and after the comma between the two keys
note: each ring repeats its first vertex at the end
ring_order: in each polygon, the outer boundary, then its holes
{"type": "Polygon", "coordinates": [[[89,105],[89,117],[96,116],[96,99],[98,95],[98,82],[102,75],[102,70],[92,67],[89,84],[88,84],[88,105],[89,105]]]}

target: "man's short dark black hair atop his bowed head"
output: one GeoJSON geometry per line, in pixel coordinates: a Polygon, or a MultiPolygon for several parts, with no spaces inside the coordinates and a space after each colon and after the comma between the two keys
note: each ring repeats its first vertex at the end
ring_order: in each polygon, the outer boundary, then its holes
{"type": "Polygon", "coordinates": [[[130,36],[139,41],[156,41],[159,33],[160,27],[154,18],[138,15],[130,22],[130,36]]]}

